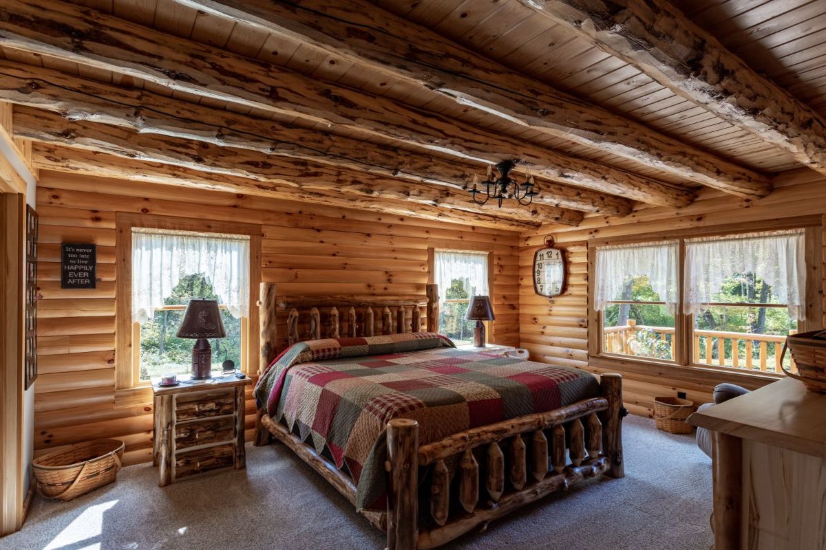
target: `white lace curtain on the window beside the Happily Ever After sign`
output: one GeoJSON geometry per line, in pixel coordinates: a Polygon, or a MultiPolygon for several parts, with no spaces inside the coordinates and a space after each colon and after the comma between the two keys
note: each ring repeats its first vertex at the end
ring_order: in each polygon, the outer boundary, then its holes
{"type": "Polygon", "coordinates": [[[178,282],[203,275],[233,317],[249,315],[249,237],[132,229],[132,320],[146,322],[178,282]]]}

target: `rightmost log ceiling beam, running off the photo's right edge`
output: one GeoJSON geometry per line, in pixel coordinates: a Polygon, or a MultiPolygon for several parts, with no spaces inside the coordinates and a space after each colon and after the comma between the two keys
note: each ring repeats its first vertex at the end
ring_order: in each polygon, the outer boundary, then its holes
{"type": "Polygon", "coordinates": [[[826,174],[826,121],[667,0],[520,0],[676,94],[826,174]]]}

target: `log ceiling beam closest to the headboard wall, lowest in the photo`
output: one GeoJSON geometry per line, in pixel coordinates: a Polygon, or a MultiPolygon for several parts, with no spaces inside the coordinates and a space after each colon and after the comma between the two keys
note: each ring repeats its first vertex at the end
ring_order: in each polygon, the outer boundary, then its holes
{"type": "MultiPolygon", "coordinates": [[[[201,172],[159,162],[140,162],[126,157],[96,153],[86,149],[67,148],[50,143],[34,143],[32,153],[35,165],[40,170],[82,176],[111,177],[126,181],[145,181],[199,190],[229,191],[239,195],[266,196],[295,201],[297,212],[301,211],[301,204],[325,204],[394,216],[460,223],[465,226],[474,225],[512,231],[527,231],[539,227],[539,223],[523,223],[486,214],[471,214],[461,210],[413,204],[403,200],[380,200],[347,193],[261,185],[242,177],[201,172]]],[[[140,201],[135,202],[135,211],[144,214],[152,213],[151,209],[146,209],[140,201]]]]}

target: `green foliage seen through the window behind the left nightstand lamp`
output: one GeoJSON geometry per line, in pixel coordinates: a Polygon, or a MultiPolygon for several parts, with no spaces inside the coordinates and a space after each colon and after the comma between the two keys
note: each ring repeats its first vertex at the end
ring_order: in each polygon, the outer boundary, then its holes
{"type": "MultiPolygon", "coordinates": [[[[218,296],[203,275],[188,275],[164,299],[164,304],[186,305],[192,298],[218,299],[218,296]]],[[[195,341],[175,336],[183,322],[183,313],[183,310],[157,311],[153,319],[140,326],[141,380],[161,374],[192,372],[192,346],[195,341]]],[[[212,370],[221,370],[221,364],[228,359],[235,361],[235,367],[240,368],[241,320],[232,317],[229,310],[221,309],[221,321],[226,337],[210,340],[212,370]]]]}

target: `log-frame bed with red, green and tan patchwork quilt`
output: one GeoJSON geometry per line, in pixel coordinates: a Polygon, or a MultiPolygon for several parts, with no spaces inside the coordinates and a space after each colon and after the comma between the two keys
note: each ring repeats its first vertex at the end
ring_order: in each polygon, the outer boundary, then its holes
{"type": "Polygon", "coordinates": [[[458,350],[435,334],[436,295],[284,297],[262,284],[255,444],[287,444],[391,550],[436,548],[574,483],[623,477],[619,374],[458,350]]]}

